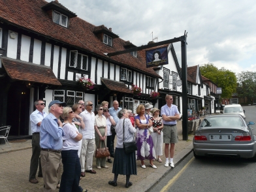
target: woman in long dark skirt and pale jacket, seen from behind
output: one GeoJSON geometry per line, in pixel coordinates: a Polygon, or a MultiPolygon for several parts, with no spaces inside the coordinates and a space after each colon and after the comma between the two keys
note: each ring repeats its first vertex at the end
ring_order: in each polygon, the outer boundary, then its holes
{"type": "Polygon", "coordinates": [[[118,121],[116,125],[117,144],[112,169],[112,173],[114,173],[114,180],[108,182],[108,184],[116,187],[118,174],[123,174],[126,175],[125,187],[128,188],[133,185],[130,182],[131,174],[137,174],[136,157],[135,152],[128,154],[125,153],[125,150],[123,149],[123,141],[133,141],[135,139],[134,133],[136,129],[135,127],[133,127],[133,125],[131,125],[131,121],[129,120],[129,114],[126,109],[120,110],[120,112],[118,113],[118,118],[120,118],[120,121],[118,121]]]}

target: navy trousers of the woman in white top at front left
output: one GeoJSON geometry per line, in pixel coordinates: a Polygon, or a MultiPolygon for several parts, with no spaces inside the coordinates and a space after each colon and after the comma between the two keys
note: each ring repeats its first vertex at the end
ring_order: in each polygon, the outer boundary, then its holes
{"type": "Polygon", "coordinates": [[[81,165],[78,157],[78,150],[61,151],[63,174],[61,176],[61,192],[81,192],[82,187],[79,186],[81,165]]]}

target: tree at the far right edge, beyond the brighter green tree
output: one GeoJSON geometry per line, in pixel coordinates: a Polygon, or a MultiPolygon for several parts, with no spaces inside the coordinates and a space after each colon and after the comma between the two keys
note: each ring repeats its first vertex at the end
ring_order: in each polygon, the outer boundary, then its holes
{"type": "Polygon", "coordinates": [[[238,86],[237,93],[238,97],[247,97],[248,103],[251,103],[251,99],[256,97],[256,72],[242,71],[237,74],[238,86]]]}

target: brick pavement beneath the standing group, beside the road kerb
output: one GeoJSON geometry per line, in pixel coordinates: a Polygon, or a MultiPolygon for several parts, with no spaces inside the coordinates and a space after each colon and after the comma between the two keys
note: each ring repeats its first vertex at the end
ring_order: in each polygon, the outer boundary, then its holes
{"type": "MultiPolygon", "coordinates": [[[[193,135],[188,136],[188,140],[182,140],[182,121],[177,122],[178,143],[175,145],[174,165],[177,165],[193,150],[193,135]]],[[[10,142],[11,148],[7,144],[0,145],[0,191],[43,191],[43,179],[37,178],[39,184],[29,182],[29,166],[32,154],[31,140],[20,140],[23,142],[10,142]]],[[[164,150],[164,145],[163,145],[164,150]]],[[[112,158],[111,158],[112,159],[112,158]]],[[[125,176],[118,176],[118,186],[108,185],[108,181],[113,180],[112,163],[106,162],[109,168],[97,169],[95,158],[93,158],[93,169],[97,174],[89,174],[80,180],[80,186],[88,191],[148,191],[157,184],[168,172],[175,171],[174,168],[165,167],[165,153],[161,156],[163,163],[154,161],[156,169],[150,167],[150,161],[146,160],[146,168],[140,167],[140,161],[136,161],[137,175],[131,175],[130,181],[133,185],[125,188],[125,176]]],[[[113,160],[113,159],[112,159],[113,160]]],[[[56,191],[59,191],[56,189],[56,191]]]]}

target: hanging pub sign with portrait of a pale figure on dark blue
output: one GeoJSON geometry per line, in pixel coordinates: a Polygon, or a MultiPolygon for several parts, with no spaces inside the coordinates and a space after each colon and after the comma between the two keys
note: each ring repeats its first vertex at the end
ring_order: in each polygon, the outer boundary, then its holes
{"type": "Polygon", "coordinates": [[[146,51],[146,67],[155,67],[168,64],[167,47],[146,51]]]}

